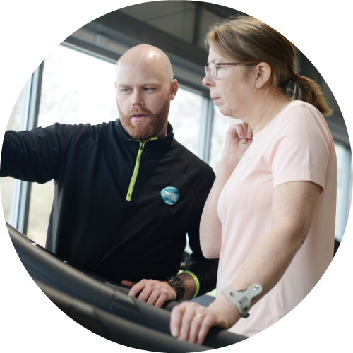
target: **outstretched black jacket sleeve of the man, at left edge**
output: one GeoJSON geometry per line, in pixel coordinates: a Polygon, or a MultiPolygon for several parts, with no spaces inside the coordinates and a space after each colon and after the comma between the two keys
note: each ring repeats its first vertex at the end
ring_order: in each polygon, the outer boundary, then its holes
{"type": "Polygon", "coordinates": [[[1,148],[0,177],[40,184],[56,179],[63,157],[79,129],[77,125],[56,123],[31,131],[6,131],[1,148]]]}

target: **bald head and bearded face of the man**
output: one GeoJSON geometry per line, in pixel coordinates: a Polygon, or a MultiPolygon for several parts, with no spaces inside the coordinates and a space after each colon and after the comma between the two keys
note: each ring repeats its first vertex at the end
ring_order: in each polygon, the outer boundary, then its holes
{"type": "Polygon", "coordinates": [[[168,56],[140,44],[121,56],[115,74],[116,103],[125,131],[136,140],[166,136],[169,104],[178,90],[168,56]]]}

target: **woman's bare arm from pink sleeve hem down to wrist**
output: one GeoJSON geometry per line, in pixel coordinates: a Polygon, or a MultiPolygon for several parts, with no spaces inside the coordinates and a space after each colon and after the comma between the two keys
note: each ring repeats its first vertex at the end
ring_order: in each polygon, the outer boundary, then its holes
{"type": "MultiPolygon", "coordinates": [[[[320,192],[321,186],[311,181],[293,181],[275,188],[273,227],[258,241],[237,277],[228,285],[239,291],[259,283],[263,291],[253,298],[251,306],[275,287],[304,243],[320,192]]],[[[217,304],[214,309],[227,313],[227,321],[234,325],[240,313],[234,312],[234,307],[230,305],[232,303],[226,299],[225,294],[221,294],[213,304],[217,304]]]]}

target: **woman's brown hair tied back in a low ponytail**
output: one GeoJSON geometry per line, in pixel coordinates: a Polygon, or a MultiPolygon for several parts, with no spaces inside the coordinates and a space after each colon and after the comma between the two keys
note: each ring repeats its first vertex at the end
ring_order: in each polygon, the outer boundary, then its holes
{"type": "MultiPolygon", "coordinates": [[[[205,37],[206,47],[234,60],[266,62],[272,68],[270,83],[275,83],[289,97],[289,81],[294,80],[292,100],[312,104],[322,114],[332,110],[323,97],[320,86],[310,78],[295,75],[294,47],[289,40],[258,18],[241,16],[213,25],[205,37]]],[[[244,66],[250,69],[251,66],[244,66]]]]}

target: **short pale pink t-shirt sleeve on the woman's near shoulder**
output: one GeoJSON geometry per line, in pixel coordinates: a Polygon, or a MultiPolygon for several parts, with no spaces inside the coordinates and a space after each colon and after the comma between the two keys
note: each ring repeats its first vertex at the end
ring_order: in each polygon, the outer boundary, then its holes
{"type": "Polygon", "coordinates": [[[277,123],[268,148],[273,188],[290,181],[312,181],[325,189],[330,160],[323,116],[304,105],[289,109],[277,123]]]}

